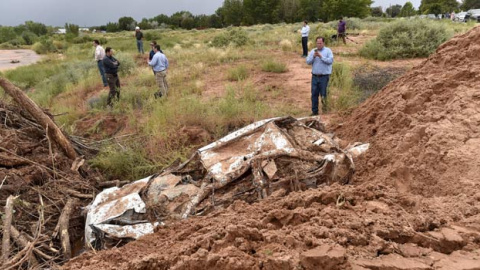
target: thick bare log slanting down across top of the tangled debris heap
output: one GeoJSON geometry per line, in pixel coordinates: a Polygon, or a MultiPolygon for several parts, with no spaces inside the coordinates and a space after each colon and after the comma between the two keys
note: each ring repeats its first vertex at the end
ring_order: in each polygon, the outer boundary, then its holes
{"type": "Polygon", "coordinates": [[[40,107],[33,102],[21,89],[13,85],[5,78],[0,78],[0,86],[5,90],[5,93],[10,95],[15,102],[22,108],[28,111],[33,118],[35,118],[44,129],[48,128],[48,134],[60,147],[70,159],[75,159],[77,154],[73,149],[70,141],[65,137],[63,132],[57,127],[50,117],[45,115],[40,107]]]}

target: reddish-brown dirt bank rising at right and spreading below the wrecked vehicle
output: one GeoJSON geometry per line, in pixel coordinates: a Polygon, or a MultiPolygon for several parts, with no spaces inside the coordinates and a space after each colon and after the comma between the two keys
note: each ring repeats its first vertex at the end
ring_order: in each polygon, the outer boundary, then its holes
{"type": "Polygon", "coordinates": [[[353,185],[167,224],[65,269],[480,269],[480,28],[337,128],[371,143],[353,185]]]}

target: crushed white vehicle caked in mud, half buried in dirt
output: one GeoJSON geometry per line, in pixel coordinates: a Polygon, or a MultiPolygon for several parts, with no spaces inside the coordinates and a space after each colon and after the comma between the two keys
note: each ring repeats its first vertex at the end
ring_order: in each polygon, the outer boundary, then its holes
{"type": "Polygon", "coordinates": [[[316,117],[255,122],[198,149],[183,164],[98,194],[87,209],[86,244],[108,248],[152,233],[167,219],[203,215],[234,200],[346,184],[353,158],[368,147],[341,149],[316,117]]]}

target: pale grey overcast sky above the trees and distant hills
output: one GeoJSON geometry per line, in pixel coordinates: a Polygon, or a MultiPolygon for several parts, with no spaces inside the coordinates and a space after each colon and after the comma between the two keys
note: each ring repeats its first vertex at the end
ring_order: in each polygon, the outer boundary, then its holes
{"type": "MultiPolygon", "coordinates": [[[[421,0],[412,0],[418,8],[421,0]]],[[[388,6],[407,1],[376,0],[372,6],[388,6]]],[[[66,22],[80,26],[105,25],[130,16],[137,21],[159,14],[172,15],[188,10],[194,15],[213,14],[223,0],[0,0],[0,25],[19,25],[25,21],[64,26],[66,22]]]]}

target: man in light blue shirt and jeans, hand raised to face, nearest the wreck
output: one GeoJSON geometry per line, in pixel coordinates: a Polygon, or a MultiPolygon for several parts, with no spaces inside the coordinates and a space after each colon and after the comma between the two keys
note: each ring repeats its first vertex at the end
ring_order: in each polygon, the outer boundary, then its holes
{"type": "Polygon", "coordinates": [[[312,65],[312,116],[318,115],[318,96],[322,97],[322,112],[327,111],[327,86],[332,74],[333,53],[325,47],[325,38],[317,37],[317,48],[310,51],[307,64],[312,65]]]}

